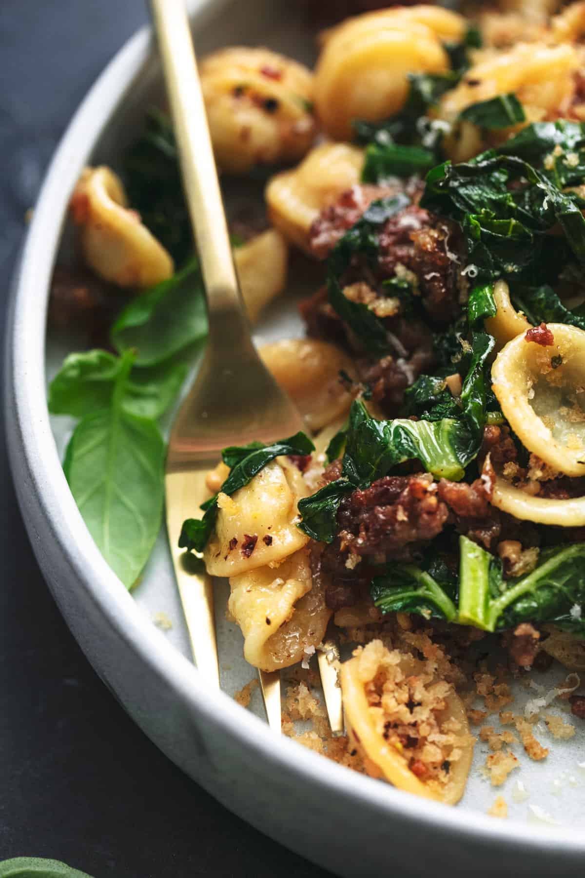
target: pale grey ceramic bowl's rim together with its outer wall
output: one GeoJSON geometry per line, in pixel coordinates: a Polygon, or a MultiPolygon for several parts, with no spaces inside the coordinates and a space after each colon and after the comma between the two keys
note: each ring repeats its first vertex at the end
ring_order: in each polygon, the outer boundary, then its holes
{"type": "MultiPolygon", "coordinates": [[[[196,46],[262,43],[294,31],[294,4],[192,4],[196,46]],[[289,8],[288,8],[289,7],[289,8]]],[[[284,40],[286,42],[286,40],[284,40]]],[[[342,875],[581,875],[582,831],[512,824],[418,800],[270,733],[221,692],[139,611],[69,493],[46,409],[46,300],[69,194],[91,155],[116,155],[161,90],[151,35],[139,32],[103,73],[61,141],[14,279],[5,420],[32,546],[89,660],[170,759],[261,831],[342,875]]],[[[535,798],[535,803],[538,801],[535,798]]],[[[286,874],[283,859],[282,873],[286,874]]]]}

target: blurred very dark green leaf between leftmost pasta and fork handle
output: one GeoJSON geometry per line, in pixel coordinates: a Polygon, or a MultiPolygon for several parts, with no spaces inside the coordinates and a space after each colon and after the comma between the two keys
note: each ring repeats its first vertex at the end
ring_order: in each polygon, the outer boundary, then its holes
{"type": "Polygon", "coordinates": [[[146,127],[124,160],[126,191],[153,235],[182,265],[193,253],[193,233],[182,190],[175,134],[160,110],[148,114],[146,127]]]}

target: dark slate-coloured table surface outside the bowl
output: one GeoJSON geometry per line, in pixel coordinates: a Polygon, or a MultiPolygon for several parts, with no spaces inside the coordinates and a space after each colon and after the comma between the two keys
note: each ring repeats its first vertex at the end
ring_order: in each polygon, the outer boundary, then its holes
{"type": "MultiPolygon", "coordinates": [[[[46,164],[143,0],[0,3],[0,277],[46,164]]],[[[0,438],[0,860],[95,878],[326,876],[234,817],[132,724],[84,659],[32,557],[0,438]]]]}

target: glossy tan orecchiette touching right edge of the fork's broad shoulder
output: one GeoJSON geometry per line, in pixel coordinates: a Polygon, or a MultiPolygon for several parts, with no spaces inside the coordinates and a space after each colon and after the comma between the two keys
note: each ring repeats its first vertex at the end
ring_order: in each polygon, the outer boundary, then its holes
{"type": "Polygon", "coordinates": [[[335,345],[312,338],[282,339],[265,344],[260,356],[310,430],[317,431],[349,411],[353,396],[339,372],[352,377],[353,363],[335,345]]]}

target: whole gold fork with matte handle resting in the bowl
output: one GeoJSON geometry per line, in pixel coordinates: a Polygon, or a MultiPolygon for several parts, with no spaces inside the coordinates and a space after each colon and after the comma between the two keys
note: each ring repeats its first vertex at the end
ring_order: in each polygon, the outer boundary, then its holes
{"type": "MultiPolygon", "coordinates": [[[[205,474],[218,463],[223,448],[253,440],[268,443],[293,435],[305,425],[253,347],[232,259],[184,0],[151,0],[151,7],[209,317],[203,363],[176,416],[168,443],[167,528],[196,665],[210,685],[218,686],[210,577],[194,570],[193,559],[178,548],[182,522],[196,515],[206,496],[205,474]]],[[[268,722],[280,732],[280,674],[260,672],[260,685],[268,722]]],[[[326,686],[337,689],[330,678],[326,686]]],[[[340,699],[331,693],[330,701],[339,714],[331,717],[337,730],[342,725],[340,699]]]]}

